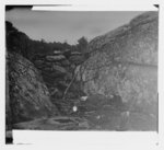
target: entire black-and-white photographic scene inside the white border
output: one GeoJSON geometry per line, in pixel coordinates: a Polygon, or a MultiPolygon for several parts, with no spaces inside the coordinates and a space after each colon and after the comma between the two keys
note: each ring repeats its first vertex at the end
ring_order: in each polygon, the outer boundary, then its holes
{"type": "Polygon", "coordinates": [[[157,131],[157,11],[5,5],[7,132],[157,131]]]}

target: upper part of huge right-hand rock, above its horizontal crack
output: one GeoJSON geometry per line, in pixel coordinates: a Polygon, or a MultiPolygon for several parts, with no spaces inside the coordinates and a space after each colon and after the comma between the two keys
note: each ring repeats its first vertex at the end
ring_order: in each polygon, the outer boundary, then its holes
{"type": "Polygon", "coordinates": [[[101,53],[99,58],[94,59],[99,60],[98,65],[116,60],[156,66],[157,30],[157,12],[147,12],[129,24],[95,37],[89,45],[89,51],[92,51],[92,59],[101,53]]]}

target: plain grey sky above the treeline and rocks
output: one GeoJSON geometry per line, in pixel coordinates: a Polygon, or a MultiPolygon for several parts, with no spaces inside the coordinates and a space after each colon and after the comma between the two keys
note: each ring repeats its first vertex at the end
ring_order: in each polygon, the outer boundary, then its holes
{"type": "Polygon", "coordinates": [[[67,42],[77,44],[85,36],[87,41],[127,24],[141,14],[139,11],[68,12],[32,11],[12,9],[5,12],[5,20],[24,32],[32,39],[46,42],[67,42]]]}

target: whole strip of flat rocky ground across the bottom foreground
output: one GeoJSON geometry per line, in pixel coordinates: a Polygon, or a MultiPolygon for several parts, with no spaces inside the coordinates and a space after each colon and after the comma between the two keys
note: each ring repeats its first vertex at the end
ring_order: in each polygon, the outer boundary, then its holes
{"type": "Polygon", "coordinates": [[[105,112],[87,112],[83,117],[57,116],[40,118],[31,122],[19,123],[13,129],[32,130],[108,130],[108,131],[156,131],[157,120],[153,116],[141,113],[114,112],[110,115],[105,112]]]}

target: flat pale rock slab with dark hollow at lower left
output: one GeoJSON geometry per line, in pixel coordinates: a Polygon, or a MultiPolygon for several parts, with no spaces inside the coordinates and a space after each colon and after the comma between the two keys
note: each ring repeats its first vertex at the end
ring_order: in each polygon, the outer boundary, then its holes
{"type": "Polygon", "coordinates": [[[15,124],[13,128],[35,130],[85,130],[90,128],[90,125],[87,120],[83,118],[58,116],[19,123],[15,124]]]}

